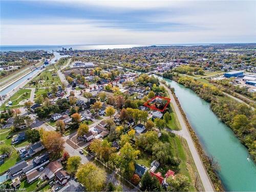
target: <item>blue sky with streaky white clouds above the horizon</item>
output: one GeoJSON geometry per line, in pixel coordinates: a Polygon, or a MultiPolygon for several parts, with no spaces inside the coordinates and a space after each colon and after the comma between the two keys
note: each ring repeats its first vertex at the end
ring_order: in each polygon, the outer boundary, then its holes
{"type": "Polygon", "coordinates": [[[256,42],[256,1],[3,1],[1,45],[256,42]]]}

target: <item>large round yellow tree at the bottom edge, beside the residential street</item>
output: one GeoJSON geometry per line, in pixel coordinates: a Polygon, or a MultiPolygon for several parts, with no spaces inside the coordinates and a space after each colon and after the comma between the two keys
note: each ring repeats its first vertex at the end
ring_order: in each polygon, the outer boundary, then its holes
{"type": "Polygon", "coordinates": [[[106,181],[105,171],[92,162],[82,165],[77,170],[76,177],[88,191],[102,191],[106,181]]]}

